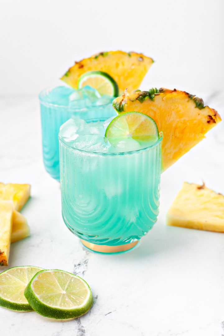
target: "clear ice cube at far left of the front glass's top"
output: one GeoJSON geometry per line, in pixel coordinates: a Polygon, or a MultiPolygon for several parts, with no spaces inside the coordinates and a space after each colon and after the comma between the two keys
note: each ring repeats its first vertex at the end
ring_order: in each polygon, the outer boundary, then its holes
{"type": "Polygon", "coordinates": [[[88,134],[89,125],[83,119],[73,117],[60,127],[59,137],[65,142],[73,142],[79,135],[88,134]]]}

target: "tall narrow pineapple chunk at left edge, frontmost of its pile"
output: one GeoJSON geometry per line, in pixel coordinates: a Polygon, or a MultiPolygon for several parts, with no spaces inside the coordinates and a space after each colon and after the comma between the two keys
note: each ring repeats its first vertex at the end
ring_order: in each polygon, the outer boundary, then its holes
{"type": "Polygon", "coordinates": [[[0,266],[8,266],[13,202],[0,201],[0,266]]]}

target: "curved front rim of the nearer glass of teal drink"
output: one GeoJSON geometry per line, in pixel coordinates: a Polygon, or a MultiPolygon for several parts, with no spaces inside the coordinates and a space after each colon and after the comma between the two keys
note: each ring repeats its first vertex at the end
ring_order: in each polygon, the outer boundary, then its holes
{"type": "MultiPolygon", "coordinates": [[[[100,118],[98,118],[100,119],[100,118]]],[[[163,132],[160,132],[159,133],[159,139],[151,144],[150,146],[147,146],[145,148],[142,148],[142,149],[138,149],[138,150],[135,150],[135,151],[129,151],[129,152],[116,152],[116,153],[101,153],[101,152],[90,152],[90,151],[85,151],[85,150],[82,150],[82,149],[78,149],[78,148],[74,148],[72,145],[69,145],[68,143],[65,143],[62,141],[61,137],[59,136],[58,134],[58,140],[59,142],[66,148],[72,150],[73,152],[80,152],[80,153],[84,153],[84,154],[88,154],[88,155],[94,155],[94,156],[125,156],[125,155],[132,155],[132,154],[137,154],[137,153],[142,153],[142,152],[145,152],[147,150],[152,150],[154,149],[155,147],[157,147],[158,145],[160,145],[160,143],[162,142],[163,140],[163,132]]],[[[74,140],[75,141],[75,140],[74,140]]]]}

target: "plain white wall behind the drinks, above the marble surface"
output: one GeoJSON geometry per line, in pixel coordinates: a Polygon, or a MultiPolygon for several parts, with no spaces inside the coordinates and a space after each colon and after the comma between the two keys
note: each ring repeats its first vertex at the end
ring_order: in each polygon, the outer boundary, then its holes
{"type": "Polygon", "coordinates": [[[36,94],[95,52],[143,52],[143,88],[224,84],[222,0],[1,1],[0,96],[36,94]]]}

